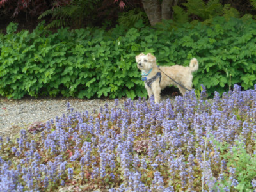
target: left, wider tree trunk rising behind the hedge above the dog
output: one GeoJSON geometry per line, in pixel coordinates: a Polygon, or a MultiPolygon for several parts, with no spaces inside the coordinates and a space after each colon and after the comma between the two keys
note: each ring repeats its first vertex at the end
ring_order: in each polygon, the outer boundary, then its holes
{"type": "Polygon", "coordinates": [[[143,8],[152,26],[161,22],[161,7],[156,0],[142,0],[143,8]]]}

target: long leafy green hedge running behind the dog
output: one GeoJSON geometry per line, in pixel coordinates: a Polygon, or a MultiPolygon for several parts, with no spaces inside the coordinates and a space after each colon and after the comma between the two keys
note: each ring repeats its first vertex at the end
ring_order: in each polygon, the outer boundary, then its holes
{"type": "Polygon", "coordinates": [[[188,65],[198,58],[194,87],[204,84],[208,93],[228,91],[232,84],[253,88],[256,76],[256,22],[250,18],[216,17],[173,29],[171,22],[156,28],[59,29],[39,24],[32,32],[15,33],[11,23],[0,33],[0,95],[64,97],[145,96],[134,57],[152,52],[159,65],[188,65]]]}

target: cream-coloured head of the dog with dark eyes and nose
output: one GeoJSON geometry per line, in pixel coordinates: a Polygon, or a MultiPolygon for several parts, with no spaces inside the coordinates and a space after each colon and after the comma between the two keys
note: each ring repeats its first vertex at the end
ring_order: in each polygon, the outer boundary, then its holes
{"type": "Polygon", "coordinates": [[[145,55],[141,53],[135,57],[137,62],[137,67],[140,70],[148,71],[156,65],[156,57],[152,56],[152,54],[148,53],[145,55]]]}

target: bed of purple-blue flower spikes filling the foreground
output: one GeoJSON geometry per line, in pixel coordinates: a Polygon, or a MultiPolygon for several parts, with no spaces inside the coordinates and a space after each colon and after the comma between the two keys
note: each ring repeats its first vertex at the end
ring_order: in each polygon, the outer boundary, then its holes
{"type": "Polygon", "coordinates": [[[201,191],[256,185],[256,86],[128,99],[0,138],[1,191],[201,191]]]}

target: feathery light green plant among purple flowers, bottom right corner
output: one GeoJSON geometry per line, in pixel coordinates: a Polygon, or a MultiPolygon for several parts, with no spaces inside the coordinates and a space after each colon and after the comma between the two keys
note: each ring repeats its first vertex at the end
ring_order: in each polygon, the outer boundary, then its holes
{"type": "MultiPolygon", "coordinates": [[[[253,133],[251,138],[253,138],[253,133]]],[[[252,145],[255,145],[255,138],[253,138],[254,142],[245,143],[245,139],[240,135],[238,139],[234,140],[233,145],[227,142],[220,143],[214,139],[214,136],[211,136],[211,140],[216,146],[216,150],[225,152],[221,157],[227,162],[227,169],[233,175],[233,177],[230,177],[230,173],[224,173],[224,179],[221,182],[216,182],[216,189],[220,189],[220,186],[221,189],[231,189],[234,186],[234,181],[232,182],[232,180],[236,178],[237,191],[251,191],[250,189],[253,187],[252,182],[255,182],[256,176],[256,155],[251,154],[251,151],[254,149],[252,145]],[[230,150],[228,151],[228,149],[230,150]]]]}

